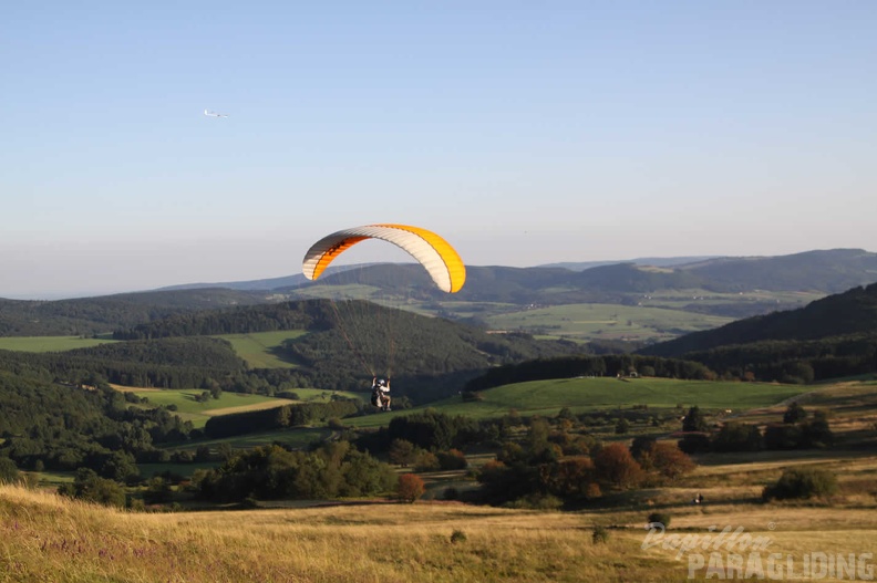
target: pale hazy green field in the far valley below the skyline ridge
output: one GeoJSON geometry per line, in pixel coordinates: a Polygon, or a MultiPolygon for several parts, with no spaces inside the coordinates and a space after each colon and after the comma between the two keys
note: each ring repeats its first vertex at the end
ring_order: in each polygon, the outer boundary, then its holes
{"type": "Polygon", "coordinates": [[[492,330],[524,331],[570,340],[670,340],[710,330],[731,317],[617,304],[568,304],[484,317],[492,330]]]}

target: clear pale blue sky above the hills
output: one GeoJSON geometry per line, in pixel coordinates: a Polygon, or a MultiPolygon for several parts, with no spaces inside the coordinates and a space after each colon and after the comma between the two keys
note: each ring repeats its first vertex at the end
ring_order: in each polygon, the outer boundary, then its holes
{"type": "Polygon", "coordinates": [[[3,2],[0,298],[288,275],[379,221],[481,266],[877,251],[875,31],[871,0],[3,2]]]}

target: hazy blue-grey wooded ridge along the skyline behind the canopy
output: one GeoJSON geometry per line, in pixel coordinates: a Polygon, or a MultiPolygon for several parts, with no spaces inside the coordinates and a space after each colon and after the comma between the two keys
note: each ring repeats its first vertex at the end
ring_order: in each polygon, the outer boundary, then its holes
{"type": "MultiPolygon", "coordinates": [[[[164,291],[202,288],[289,292],[298,288],[345,282],[340,273],[363,266],[330,268],[319,282],[301,274],[285,278],[227,283],[190,283],[163,288],[164,291]]],[[[432,292],[429,278],[416,264],[371,264],[363,275],[370,285],[381,287],[398,277],[390,270],[410,270],[412,285],[432,292]]],[[[534,268],[468,266],[466,285],[455,296],[473,301],[517,301],[529,303],[547,288],[566,287],[557,293],[561,301],[592,301],[596,293],[638,293],[660,289],[693,289],[737,292],[750,290],[822,291],[837,293],[855,285],[877,281],[877,253],[861,249],[806,251],[778,257],[640,258],[629,261],[585,261],[550,263],[534,268]],[[658,268],[658,269],[654,269],[658,268]],[[578,292],[578,295],[576,294],[578,292]]]]}

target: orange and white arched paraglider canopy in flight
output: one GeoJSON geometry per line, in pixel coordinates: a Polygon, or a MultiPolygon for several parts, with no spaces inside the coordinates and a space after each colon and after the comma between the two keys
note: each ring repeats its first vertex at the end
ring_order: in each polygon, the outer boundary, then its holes
{"type": "Polygon", "coordinates": [[[407,225],[365,225],[333,232],[308,250],[301,271],[309,280],[316,280],[338,256],[365,239],[380,239],[405,250],[442,291],[455,293],[466,281],[466,267],[447,241],[432,231],[407,225]]]}

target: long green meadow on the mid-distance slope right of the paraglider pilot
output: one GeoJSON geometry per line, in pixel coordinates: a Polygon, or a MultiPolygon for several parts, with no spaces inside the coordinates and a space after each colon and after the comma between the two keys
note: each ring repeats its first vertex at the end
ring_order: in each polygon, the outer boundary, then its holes
{"type": "Polygon", "coordinates": [[[654,409],[688,408],[742,410],[766,407],[812,391],[799,385],[773,383],[737,383],[720,381],[674,381],[669,378],[566,378],[532,381],[491,388],[481,393],[483,400],[464,403],[451,397],[404,412],[344,419],[352,427],[386,425],[398,415],[434,408],[447,415],[464,415],[475,419],[502,417],[510,409],[519,415],[554,416],[563,407],[574,413],[607,409],[630,409],[646,405],[654,409]]]}

